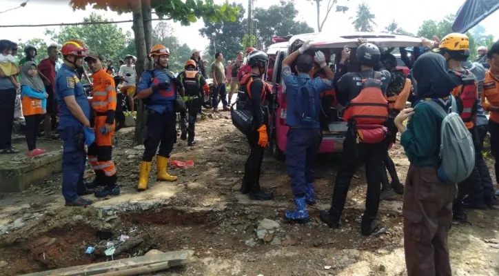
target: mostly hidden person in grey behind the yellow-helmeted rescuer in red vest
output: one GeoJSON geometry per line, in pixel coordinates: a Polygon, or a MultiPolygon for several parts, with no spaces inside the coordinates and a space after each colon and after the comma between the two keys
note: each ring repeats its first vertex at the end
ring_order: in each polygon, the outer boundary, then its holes
{"type": "MultiPolygon", "coordinates": [[[[494,208],[498,204],[496,195],[494,195],[492,178],[490,176],[489,167],[485,163],[483,158],[483,143],[485,137],[487,137],[487,132],[489,132],[489,121],[485,115],[482,105],[482,93],[483,93],[483,82],[485,80],[485,73],[487,70],[482,66],[481,63],[466,61],[463,63],[464,68],[469,69],[478,81],[478,104],[476,110],[476,134],[478,135],[478,144],[475,151],[476,166],[478,168],[478,173],[480,174],[480,179],[482,179],[482,190],[483,190],[483,201],[489,208],[494,208]]],[[[478,187],[477,187],[478,188],[478,187]]],[[[476,202],[473,202],[470,197],[466,197],[463,201],[465,207],[475,206],[476,202]]]]}

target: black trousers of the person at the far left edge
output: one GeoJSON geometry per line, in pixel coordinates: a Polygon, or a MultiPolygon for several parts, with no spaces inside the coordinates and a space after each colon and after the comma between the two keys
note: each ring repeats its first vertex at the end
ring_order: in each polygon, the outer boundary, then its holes
{"type": "Polygon", "coordinates": [[[0,150],[12,147],[16,88],[0,90],[0,150]]]}

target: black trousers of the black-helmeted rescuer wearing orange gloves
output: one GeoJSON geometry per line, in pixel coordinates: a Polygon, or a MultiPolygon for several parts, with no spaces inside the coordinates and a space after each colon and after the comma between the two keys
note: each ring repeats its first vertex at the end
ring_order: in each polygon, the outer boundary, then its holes
{"type": "Polygon", "coordinates": [[[260,174],[265,148],[258,145],[258,132],[255,131],[246,137],[249,144],[249,156],[244,167],[243,186],[258,192],[260,190],[260,174]]]}

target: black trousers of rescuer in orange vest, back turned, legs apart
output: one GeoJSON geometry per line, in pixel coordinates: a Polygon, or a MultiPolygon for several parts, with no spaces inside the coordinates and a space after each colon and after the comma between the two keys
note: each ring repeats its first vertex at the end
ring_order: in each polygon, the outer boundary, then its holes
{"type": "Polygon", "coordinates": [[[336,175],[333,199],[329,213],[334,217],[341,216],[345,201],[347,199],[350,181],[360,163],[365,163],[365,175],[367,179],[367,195],[365,200],[365,212],[363,222],[369,222],[378,216],[380,204],[380,186],[382,171],[384,169],[383,159],[387,155],[386,141],[378,144],[357,144],[356,134],[350,128],[343,142],[341,164],[336,175]]]}

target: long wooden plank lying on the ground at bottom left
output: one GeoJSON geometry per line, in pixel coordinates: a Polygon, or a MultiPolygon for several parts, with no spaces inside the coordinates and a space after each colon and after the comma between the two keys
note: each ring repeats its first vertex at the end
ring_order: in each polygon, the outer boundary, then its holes
{"type": "Polygon", "coordinates": [[[194,255],[193,250],[179,250],[158,255],[132,257],[128,259],[117,259],[110,262],[87,264],[83,266],[72,266],[70,268],[59,268],[55,270],[42,271],[26,274],[25,276],[77,276],[77,275],[102,275],[116,270],[130,270],[131,268],[141,268],[143,266],[154,266],[165,264],[168,266],[180,266],[190,262],[194,255]]]}

